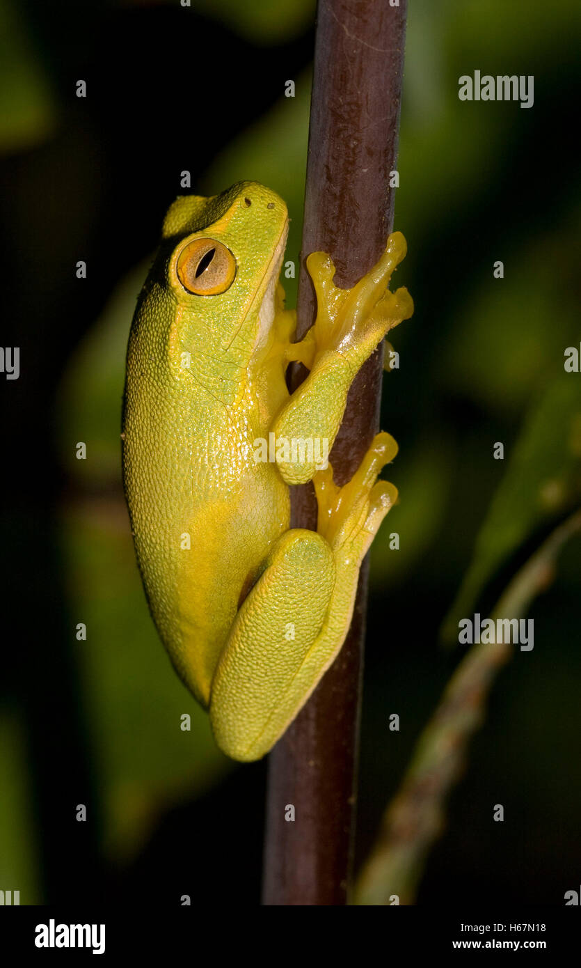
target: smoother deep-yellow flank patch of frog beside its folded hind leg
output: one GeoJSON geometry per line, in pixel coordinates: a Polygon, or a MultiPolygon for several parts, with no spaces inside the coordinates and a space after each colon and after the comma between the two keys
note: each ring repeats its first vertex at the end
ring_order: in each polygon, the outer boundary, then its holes
{"type": "Polygon", "coordinates": [[[290,523],[289,490],[273,466],[248,475],[236,497],[204,496],[187,527],[190,548],[177,568],[178,635],[166,642],[172,661],[197,699],[208,705],[219,654],[241,596],[290,523]]]}

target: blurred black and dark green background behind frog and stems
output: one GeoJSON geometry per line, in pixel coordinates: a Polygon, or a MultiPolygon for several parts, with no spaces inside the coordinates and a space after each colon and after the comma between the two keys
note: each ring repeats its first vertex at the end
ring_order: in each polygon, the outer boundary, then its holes
{"type": "MultiPolygon", "coordinates": [[[[265,765],[218,752],[160,648],[119,422],[134,299],[183,169],[199,194],[246,178],[279,192],[298,258],[314,11],[192,6],[0,0],[3,345],[20,347],[20,377],[0,378],[0,889],[22,904],[259,898],[265,765]]],[[[580,34],[568,0],[410,2],[395,227],[409,246],[397,283],[416,313],[393,333],[400,369],[384,390],[401,500],[372,555],[358,862],[458,661],[439,629],[512,448],[579,345],[580,34]],[[458,77],[475,69],[534,75],[535,106],[459,102],[458,77]],[[492,458],[499,440],[505,462],[492,458]]],[[[488,576],[483,601],[571,499],[488,576]]],[[[579,579],[577,538],[534,605],[535,650],[493,688],[420,904],[562,904],[578,889],[579,579]]]]}

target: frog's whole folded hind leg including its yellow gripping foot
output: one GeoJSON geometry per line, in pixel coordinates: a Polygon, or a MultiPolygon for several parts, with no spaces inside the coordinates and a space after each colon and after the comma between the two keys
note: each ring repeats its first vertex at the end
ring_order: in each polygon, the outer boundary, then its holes
{"type": "Polygon", "coordinates": [[[281,535],[242,604],[210,700],[218,745],[234,759],[268,753],[340,650],[363,556],[397,497],[392,484],[376,483],[396,450],[379,434],[342,488],[331,468],[318,472],[318,531],[281,535]]]}

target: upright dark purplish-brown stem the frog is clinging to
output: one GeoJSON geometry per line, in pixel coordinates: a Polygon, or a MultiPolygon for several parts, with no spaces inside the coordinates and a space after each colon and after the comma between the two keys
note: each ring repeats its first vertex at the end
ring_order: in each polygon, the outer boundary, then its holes
{"type": "MultiPolygon", "coordinates": [[[[305,256],[328,252],[335,283],[351,287],[381,255],[392,230],[390,172],[397,131],[406,0],[319,0],[313,76],[298,338],[315,300],[305,256]]],[[[331,460],[348,481],[378,429],[383,348],[355,379],[331,460]]],[[[316,529],[312,486],[293,489],[293,527],[316,529]]],[[[366,562],[354,618],[334,665],[276,744],[269,763],[264,903],[347,902],[355,787],[366,562]],[[286,804],[295,821],[285,820],[286,804]]]]}

